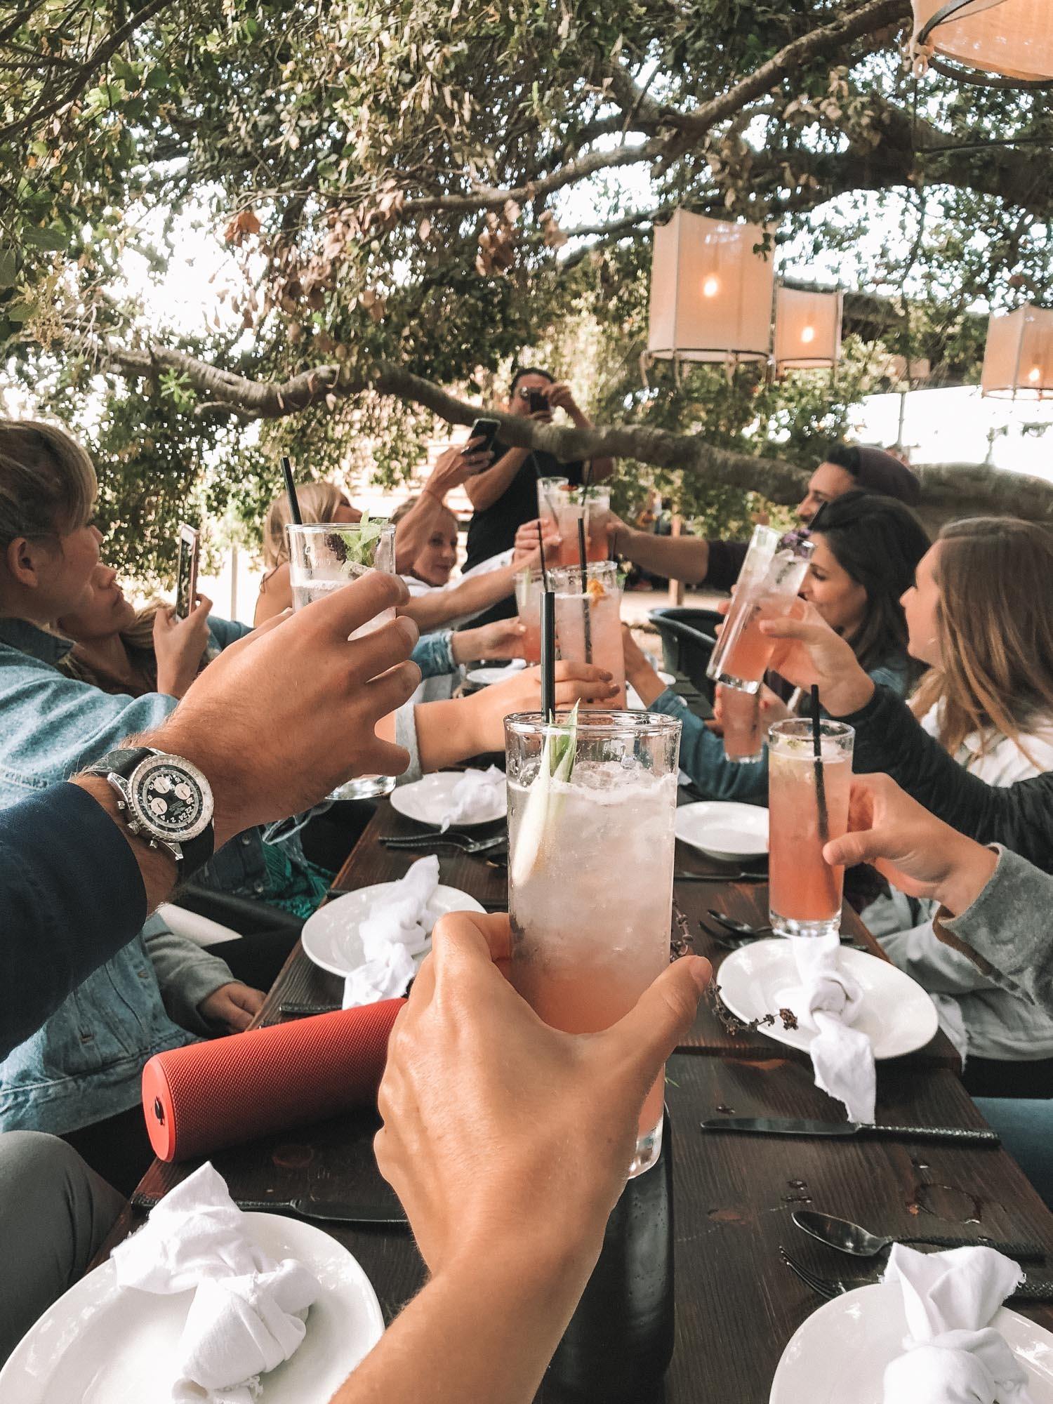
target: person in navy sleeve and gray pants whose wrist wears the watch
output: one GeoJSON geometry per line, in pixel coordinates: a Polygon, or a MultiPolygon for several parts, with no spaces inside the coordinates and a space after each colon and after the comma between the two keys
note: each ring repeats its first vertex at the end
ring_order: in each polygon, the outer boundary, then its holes
{"type": "MultiPolygon", "coordinates": [[[[383,654],[379,633],[368,646],[347,637],[397,598],[395,581],[362,583],[323,601],[310,622],[261,630],[249,653],[244,644],[230,649],[198,680],[177,717],[139,739],[191,761],[209,781],[218,845],[320,800],[348,775],[393,774],[406,764],[373,727],[417,682],[404,663],[413,630],[385,626],[383,654]],[[282,747],[256,746],[267,727],[282,747]]],[[[101,776],[53,785],[0,813],[0,1054],[133,941],[174,882],[171,856],[132,838],[101,776]]],[[[87,1271],[122,1203],[58,1137],[0,1133],[0,1365],[87,1271]]]]}

